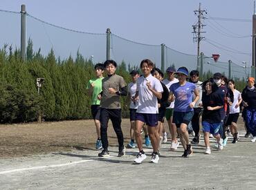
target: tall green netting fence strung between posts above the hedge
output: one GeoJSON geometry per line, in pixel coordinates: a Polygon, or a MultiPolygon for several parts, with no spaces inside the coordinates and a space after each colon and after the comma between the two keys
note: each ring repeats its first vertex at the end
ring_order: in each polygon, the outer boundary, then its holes
{"type": "MultiPolygon", "coordinates": [[[[8,44],[9,48],[19,48],[21,41],[21,13],[0,10],[1,36],[0,46],[8,44]]],[[[166,69],[174,65],[176,68],[185,66],[188,70],[196,69],[197,56],[181,53],[170,47],[161,45],[141,44],[111,33],[111,48],[107,49],[106,32],[90,33],[71,30],[42,21],[33,15],[26,13],[26,41],[33,41],[33,50],[44,56],[53,49],[56,57],[67,59],[75,57],[77,51],[93,63],[102,62],[106,59],[106,53],[110,51],[111,59],[120,64],[125,61],[128,66],[139,66],[142,59],[151,59],[158,68],[166,69]]],[[[214,62],[211,58],[203,61],[203,73],[231,74],[232,78],[246,79],[251,75],[250,68],[231,64],[228,62],[214,62]],[[229,73],[231,71],[231,73],[229,73]]]]}

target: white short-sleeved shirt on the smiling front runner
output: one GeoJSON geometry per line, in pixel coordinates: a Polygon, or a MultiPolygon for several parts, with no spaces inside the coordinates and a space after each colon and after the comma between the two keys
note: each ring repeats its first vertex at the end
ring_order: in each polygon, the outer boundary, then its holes
{"type": "Polygon", "coordinates": [[[158,113],[157,97],[147,87],[147,82],[150,82],[152,88],[158,93],[163,92],[161,82],[149,75],[148,77],[141,76],[137,80],[138,91],[138,108],[137,113],[158,113]]]}

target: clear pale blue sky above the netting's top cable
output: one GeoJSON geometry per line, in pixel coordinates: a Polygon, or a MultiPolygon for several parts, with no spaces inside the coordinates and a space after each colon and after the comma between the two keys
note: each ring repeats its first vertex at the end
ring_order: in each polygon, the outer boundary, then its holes
{"type": "Polygon", "coordinates": [[[110,28],[115,35],[131,41],[165,44],[196,55],[192,25],[197,21],[194,10],[199,2],[207,12],[201,52],[220,54],[219,61],[231,59],[241,66],[243,61],[250,65],[253,0],[1,0],[0,9],[19,12],[25,4],[28,14],[57,26],[93,33],[110,28]]]}

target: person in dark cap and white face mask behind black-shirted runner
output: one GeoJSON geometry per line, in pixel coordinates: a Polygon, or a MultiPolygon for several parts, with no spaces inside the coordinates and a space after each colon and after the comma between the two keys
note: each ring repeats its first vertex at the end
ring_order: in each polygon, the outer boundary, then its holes
{"type": "Polygon", "coordinates": [[[214,79],[214,83],[217,84],[218,86],[217,93],[221,94],[221,97],[223,98],[223,101],[224,101],[224,106],[223,108],[220,109],[221,123],[222,123],[220,134],[221,134],[221,141],[223,141],[223,146],[226,146],[228,137],[226,137],[226,133],[225,133],[226,132],[225,121],[229,113],[229,106],[232,105],[232,102],[234,102],[234,94],[232,93],[232,91],[228,90],[226,86],[226,82],[223,80],[223,75],[221,75],[221,73],[214,73],[213,79],[214,79]]]}

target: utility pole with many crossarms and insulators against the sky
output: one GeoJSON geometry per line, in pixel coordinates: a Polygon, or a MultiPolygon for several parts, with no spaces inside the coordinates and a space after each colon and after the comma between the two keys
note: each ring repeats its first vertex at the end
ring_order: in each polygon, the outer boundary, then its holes
{"type": "Polygon", "coordinates": [[[197,41],[197,66],[196,70],[200,70],[200,41],[204,39],[204,37],[201,36],[201,33],[205,33],[201,31],[203,29],[203,26],[205,26],[202,22],[201,19],[205,19],[203,17],[203,13],[207,14],[205,10],[201,10],[201,3],[199,3],[199,10],[194,10],[194,15],[197,15],[198,21],[196,25],[192,25],[193,27],[193,34],[195,37],[193,37],[194,41],[197,41]]]}

